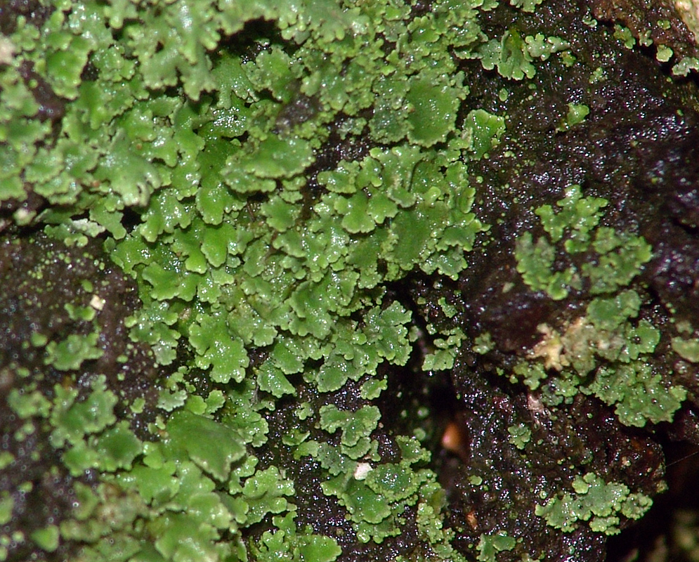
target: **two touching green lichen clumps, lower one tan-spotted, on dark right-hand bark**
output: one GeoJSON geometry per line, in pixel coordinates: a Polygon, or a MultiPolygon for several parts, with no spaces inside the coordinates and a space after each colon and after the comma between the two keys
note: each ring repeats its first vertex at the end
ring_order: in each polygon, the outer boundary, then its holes
{"type": "Polygon", "coordinates": [[[615,405],[626,425],[670,421],[686,391],[669,384],[672,373],[654,370],[649,359],[660,341],[660,329],[638,318],[639,294],[623,289],[651,259],[651,246],[642,237],[599,226],[606,204],[599,197],[582,197],[580,186],[574,185],[556,203],[559,211],[550,205],[536,209],[548,237],[533,242],[533,236],[524,233],[518,240],[517,270],[531,289],[547,292],[554,300],[566,299],[571,292],[594,298],[562,332],[540,325],[543,337],[528,355],[535,362],[519,362],[511,379],[521,377],[532,390],[545,381],[542,396],[551,405],[570,401],[578,391],[594,394],[615,405]],[[561,246],[570,265],[554,269],[561,246]],[[575,265],[576,254],[587,256],[580,267],[575,265]],[[549,378],[547,371],[556,376],[549,378]]]}

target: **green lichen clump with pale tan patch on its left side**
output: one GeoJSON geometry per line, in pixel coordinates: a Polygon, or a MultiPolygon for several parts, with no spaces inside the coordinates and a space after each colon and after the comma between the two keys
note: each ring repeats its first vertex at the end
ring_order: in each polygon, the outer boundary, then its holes
{"type": "Polygon", "coordinates": [[[576,320],[563,334],[543,327],[544,337],[530,353],[530,358],[541,358],[543,365],[518,363],[516,376],[523,377],[532,389],[546,381],[544,400],[550,404],[569,400],[580,388],[615,405],[623,424],[669,421],[686,391],[669,384],[668,374],[653,372],[648,358],[658,345],[660,332],[645,320],[631,321],[636,306],[634,292],[622,293],[618,299],[594,299],[587,309],[589,317],[576,320]],[[625,304],[630,308],[622,312],[620,306],[625,304]],[[549,379],[545,370],[558,374],[549,379]]]}

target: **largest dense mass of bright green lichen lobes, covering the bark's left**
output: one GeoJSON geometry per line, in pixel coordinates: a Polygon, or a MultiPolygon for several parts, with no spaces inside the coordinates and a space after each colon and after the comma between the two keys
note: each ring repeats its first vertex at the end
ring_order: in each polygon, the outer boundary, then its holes
{"type": "MultiPolygon", "coordinates": [[[[4,39],[13,60],[0,75],[8,148],[0,199],[44,197],[37,220],[72,244],[108,233],[112,259],[141,287],[133,338],[160,365],[173,364],[181,346],[192,353],[164,383],[154,443],[117,421],[118,398],[100,380],[84,401],[58,386],[51,404],[15,399],[18,412],[48,419],[71,473],[103,474],[98,488],[80,492],[60,536],[85,542],[93,559],[243,559],[249,550],[263,560],[280,549],[289,559],[334,559],[333,538],[294,524],[294,483],[283,469],[255,468],[263,412],[299,384],[332,392],[382,363],[405,365],[412,315],[387,298],[386,282],[414,268],[456,278],[466,267],[464,251],[484,227],[463,162],[503,130],[482,110],[464,134],[456,127],[469,88],[452,50],[483,41],[477,5],[438,3],[417,18],[381,1],[54,8],[40,30],[22,21],[4,39]],[[259,49],[225,46],[259,18],[270,22],[259,49]],[[396,41],[388,55],[384,41],[396,41]],[[22,64],[65,100],[55,122],[37,119],[22,64]],[[339,115],[339,134],[358,139],[368,127],[372,148],[311,171],[339,115]],[[133,230],[122,220],[128,209],[138,214],[133,230]],[[190,370],[220,389],[192,395],[190,370]],[[119,516],[104,519],[107,509],[119,516]],[[242,541],[242,528],[273,514],[276,530],[242,541]]],[[[18,223],[32,218],[15,213],[18,223]]],[[[97,336],[51,342],[47,362],[79,369],[100,357],[97,336]]],[[[367,399],[382,388],[367,388],[367,399]]],[[[436,477],[413,467],[424,449],[399,440],[401,458],[381,462],[373,405],[327,405],[317,415],[328,438],[339,430],[339,450],[303,436],[287,442],[327,470],[324,490],[358,538],[396,535],[405,507],[417,504],[422,540],[455,556],[440,530],[436,477]],[[372,470],[358,480],[365,458],[372,470]]],[[[56,528],[34,537],[49,551],[56,540],[56,528]]]]}

